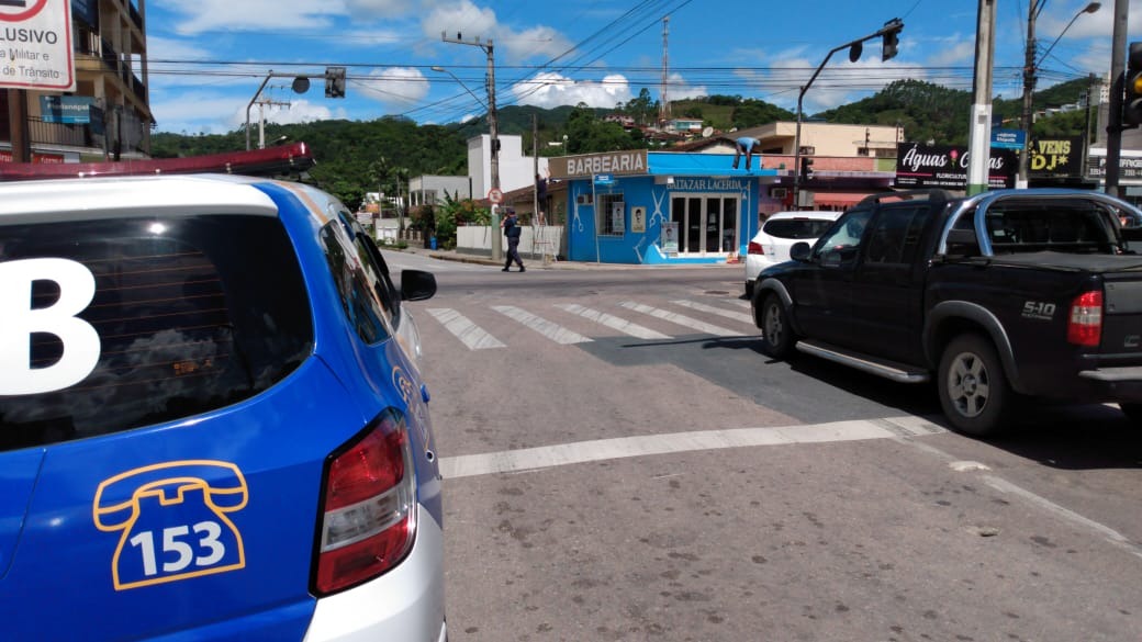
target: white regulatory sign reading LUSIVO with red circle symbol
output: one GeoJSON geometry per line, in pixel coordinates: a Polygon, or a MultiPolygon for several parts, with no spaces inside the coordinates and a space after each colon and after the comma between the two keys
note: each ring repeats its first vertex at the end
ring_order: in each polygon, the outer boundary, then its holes
{"type": "Polygon", "coordinates": [[[0,1],[0,88],[75,90],[71,0],[0,1]]]}

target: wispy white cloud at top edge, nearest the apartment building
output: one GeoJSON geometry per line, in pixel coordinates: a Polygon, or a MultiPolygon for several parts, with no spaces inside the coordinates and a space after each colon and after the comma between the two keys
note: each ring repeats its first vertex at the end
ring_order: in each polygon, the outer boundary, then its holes
{"type": "Polygon", "coordinates": [[[340,0],[199,0],[162,2],[162,8],[183,17],[179,33],[274,29],[325,29],[345,15],[340,0]]]}

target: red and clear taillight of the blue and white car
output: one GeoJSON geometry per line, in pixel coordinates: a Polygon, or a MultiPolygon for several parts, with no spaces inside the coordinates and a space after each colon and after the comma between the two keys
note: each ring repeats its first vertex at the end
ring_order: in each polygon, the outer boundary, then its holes
{"type": "Polygon", "coordinates": [[[383,412],[325,466],[314,593],[327,595],[385,573],[416,536],[416,474],[403,415],[383,412]]]}

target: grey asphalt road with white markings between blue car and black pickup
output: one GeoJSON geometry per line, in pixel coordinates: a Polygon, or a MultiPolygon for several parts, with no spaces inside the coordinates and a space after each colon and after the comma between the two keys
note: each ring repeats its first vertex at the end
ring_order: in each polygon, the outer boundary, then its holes
{"type": "Polygon", "coordinates": [[[445,474],[459,641],[1142,640],[1142,431],[757,351],[740,266],[389,255],[445,474]]]}

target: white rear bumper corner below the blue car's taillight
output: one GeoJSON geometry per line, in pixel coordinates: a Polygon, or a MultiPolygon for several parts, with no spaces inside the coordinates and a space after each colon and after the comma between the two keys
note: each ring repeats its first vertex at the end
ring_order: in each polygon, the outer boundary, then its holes
{"type": "Polygon", "coordinates": [[[417,540],[409,556],[372,581],[317,600],[305,642],[448,639],[444,535],[424,506],[417,508],[417,540]]]}

